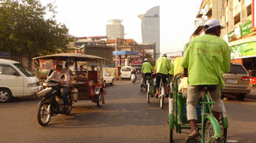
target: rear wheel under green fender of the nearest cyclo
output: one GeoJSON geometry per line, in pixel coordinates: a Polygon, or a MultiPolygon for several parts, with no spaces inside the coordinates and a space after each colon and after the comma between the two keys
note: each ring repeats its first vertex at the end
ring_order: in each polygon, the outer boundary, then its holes
{"type": "Polygon", "coordinates": [[[211,143],[221,143],[221,138],[213,138],[213,124],[210,122],[209,119],[206,120],[206,125],[204,127],[204,142],[211,142],[211,143]]]}

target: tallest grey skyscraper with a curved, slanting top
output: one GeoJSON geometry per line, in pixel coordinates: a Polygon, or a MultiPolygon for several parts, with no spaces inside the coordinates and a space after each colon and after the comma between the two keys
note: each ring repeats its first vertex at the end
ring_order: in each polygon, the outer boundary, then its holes
{"type": "Polygon", "coordinates": [[[141,22],[141,31],[143,44],[156,45],[157,57],[160,53],[160,6],[155,6],[147,11],[145,14],[140,14],[139,18],[141,22]]]}

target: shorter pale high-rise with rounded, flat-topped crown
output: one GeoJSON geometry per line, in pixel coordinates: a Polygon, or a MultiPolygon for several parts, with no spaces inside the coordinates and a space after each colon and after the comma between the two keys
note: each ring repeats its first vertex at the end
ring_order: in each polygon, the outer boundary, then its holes
{"type": "Polygon", "coordinates": [[[106,25],[106,36],[108,38],[124,38],[124,26],[121,24],[123,20],[113,19],[108,20],[106,25]]]}

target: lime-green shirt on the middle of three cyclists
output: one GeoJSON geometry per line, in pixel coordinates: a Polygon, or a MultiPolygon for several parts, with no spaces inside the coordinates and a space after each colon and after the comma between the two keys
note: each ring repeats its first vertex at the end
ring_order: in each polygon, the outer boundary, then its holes
{"type": "Polygon", "coordinates": [[[167,57],[160,57],[155,64],[155,69],[157,73],[168,75],[168,72],[171,70],[171,61],[167,57]]]}

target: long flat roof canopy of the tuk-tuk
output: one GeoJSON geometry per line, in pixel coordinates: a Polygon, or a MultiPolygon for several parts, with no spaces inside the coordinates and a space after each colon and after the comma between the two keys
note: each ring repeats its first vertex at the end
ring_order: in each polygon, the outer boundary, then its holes
{"type": "Polygon", "coordinates": [[[73,59],[74,61],[97,61],[97,60],[104,60],[102,57],[88,55],[88,54],[81,54],[81,53],[56,53],[41,57],[34,57],[33,60],[39,59],[50,59],[54,61],[67,61],[68,59],[73,59]]]}

